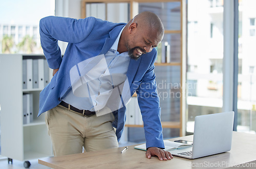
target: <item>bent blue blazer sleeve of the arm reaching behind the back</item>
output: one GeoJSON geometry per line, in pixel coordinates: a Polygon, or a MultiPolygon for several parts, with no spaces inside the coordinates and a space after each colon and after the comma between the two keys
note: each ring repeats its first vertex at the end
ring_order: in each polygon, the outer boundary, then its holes
{"type": "Polygon", "coordinates": [[[42,49],[51,69],[57,69],[62,61],[58,40],[79,43],[92,32],[94,17],[73,19],[48,16],[39,22],[39,33],[42,49]]]}

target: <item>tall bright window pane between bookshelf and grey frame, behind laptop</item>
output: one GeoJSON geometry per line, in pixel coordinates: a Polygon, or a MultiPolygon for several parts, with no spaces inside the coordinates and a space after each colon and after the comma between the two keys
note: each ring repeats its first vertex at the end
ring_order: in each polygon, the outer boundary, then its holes
{"type": "Polygon", "coordinates": [[[196,116],[222,110],[223,4],[217,0],[188,0],[187,15],[186,133],[189,134],[194,132],[196,116]],[[192,24],[195,20],[197,26],[192,24]]]}

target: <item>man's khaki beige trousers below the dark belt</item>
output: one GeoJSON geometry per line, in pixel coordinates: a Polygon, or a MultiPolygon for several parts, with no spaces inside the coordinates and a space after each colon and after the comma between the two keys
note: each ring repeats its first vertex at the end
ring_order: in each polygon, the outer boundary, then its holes
{"type": "Polygon", "coordinates": [[[117,148],[112,113],[86,117],[58,105],[46,113],[54,156],[117,148]]]}

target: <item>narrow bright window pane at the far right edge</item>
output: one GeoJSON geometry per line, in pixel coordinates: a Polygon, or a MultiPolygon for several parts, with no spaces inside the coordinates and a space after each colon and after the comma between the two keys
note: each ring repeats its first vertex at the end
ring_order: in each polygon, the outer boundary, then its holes
{"type": "Polygon", "coordinates": [[[256,13],[250,10],[255,6],[255,1],[239,1],[239,52],[241,60],[240,73],[238,74],[238,126],[237,131],[256,133],[256,13]],[[254,108],[253,108],[254,107],[254,108]]]}

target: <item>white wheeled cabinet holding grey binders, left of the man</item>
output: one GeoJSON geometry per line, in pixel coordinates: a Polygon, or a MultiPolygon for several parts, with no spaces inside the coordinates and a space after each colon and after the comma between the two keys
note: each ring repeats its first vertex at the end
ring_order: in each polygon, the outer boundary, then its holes
{"type": "MultiPolygon", "coordinates": [[[[1,155],[26,161],[52,156],[45,114],[37,117],[42,88],[23,89],[23,60],[44,55],[0,54],[1,155]],[[32,122],[23,123],[23,95],[33,95],[32,122]]],[[[47,71],[46,71],[47,72],[47,71]]],[[[50,69],[44,80],[49,83],[50,69]],[[48,77],[48,79],[47,79],[48,77]]]]}

